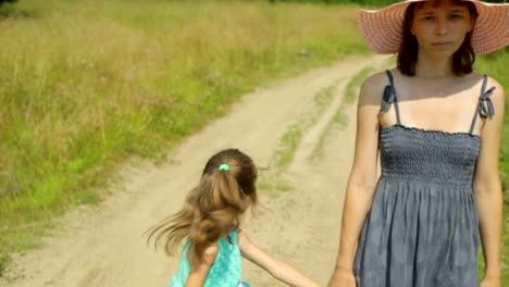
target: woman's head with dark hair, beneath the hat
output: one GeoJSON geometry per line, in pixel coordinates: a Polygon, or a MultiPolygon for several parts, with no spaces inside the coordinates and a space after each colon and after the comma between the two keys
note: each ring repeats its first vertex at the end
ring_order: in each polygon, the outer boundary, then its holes
{"type": "Polygon", "coordinates": [[[414,75],[420,50],[438,57],[452,57],[452,72],[472,72],[475,54],[472,28],[477,18],[475,4],[460,0],[412,2],[405,11],[398,68],[414,75]]]}

